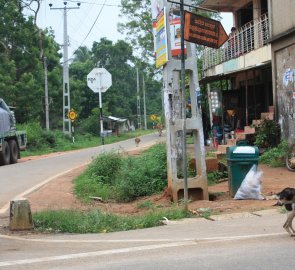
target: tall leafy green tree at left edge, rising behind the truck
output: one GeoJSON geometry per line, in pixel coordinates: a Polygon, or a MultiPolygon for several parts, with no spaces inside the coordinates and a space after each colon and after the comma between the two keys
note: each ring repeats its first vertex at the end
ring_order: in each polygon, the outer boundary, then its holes
{"type": "MultiPolygon", "coordinates": [[[[52,33],[40,31],[34,18],[26,18],[23,1],[0,0],[0,96],[15,106],[18,122],[40,120],[43,112],[43,52],[48,55],[51,70],[59,66],[59,47],[52,33]]],[[[53,83],[56,86],[56,82],[53,83]]]]}

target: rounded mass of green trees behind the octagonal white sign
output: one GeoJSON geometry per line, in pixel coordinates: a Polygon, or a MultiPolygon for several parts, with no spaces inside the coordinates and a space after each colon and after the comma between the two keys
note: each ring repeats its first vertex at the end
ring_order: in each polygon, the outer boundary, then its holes
{"type": "MultiPolygon", "coordinates": [[[[139,67],[142,89],[142,72],[145,73],[146,100],[148,113],[161,112],[161,84],[153,80],[152,73],[148,73],[150,65],[141,62],[133,56],[132,47],[125,41],[116,43],[102,38],[94,42],[92,49],[80,48],[70,65],[71,104],[77,110],[79,119],[89,118],[82,122],[87,125],[87,130],[97,131],[90,123],[98,117],[98,94],[87,87],[87,74],[94,67],[104,67],[112,74],[112,86],[103,93],[103,114],[116,117],[137,119],[137,85],[136,67],[139,67]],[[151,75],[149,75],[151,74],[151,75]]],[[[142,97],[142,93],[141,93],[142,97]]]]}

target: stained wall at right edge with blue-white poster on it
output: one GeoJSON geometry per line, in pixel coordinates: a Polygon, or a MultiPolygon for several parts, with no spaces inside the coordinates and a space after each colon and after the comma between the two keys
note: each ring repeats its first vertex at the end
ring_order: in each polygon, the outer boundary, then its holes
{"type": "Polygon", "coordinates": [[[273,92],[282,138],[295,142],[295,1],[269,0],[273,92]]]}

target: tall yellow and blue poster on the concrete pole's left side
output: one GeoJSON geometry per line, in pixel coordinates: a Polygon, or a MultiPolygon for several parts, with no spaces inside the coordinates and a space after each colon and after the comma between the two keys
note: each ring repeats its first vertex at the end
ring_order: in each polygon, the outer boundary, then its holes
{"type": "Polygon", "coordinates": [[[166,9],[163,8],[157,17],[156,28],[156,67],[159,68],[168,62],[166,9]]]}

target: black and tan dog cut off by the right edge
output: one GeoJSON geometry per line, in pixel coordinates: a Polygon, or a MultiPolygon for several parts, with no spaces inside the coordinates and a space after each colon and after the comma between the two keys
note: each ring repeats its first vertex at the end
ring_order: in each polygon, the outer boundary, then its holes
{"type": "Polygon", "coordinates": [[[295,236],[295,230],[292,226],[295,217],[295,188],[285,188],[277,194],[279,202],[285,206],[288,211],[288,217],[283,228],[291,235],[295,236]]]}

